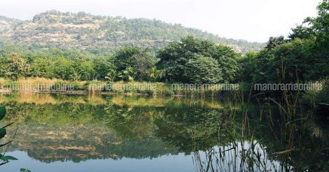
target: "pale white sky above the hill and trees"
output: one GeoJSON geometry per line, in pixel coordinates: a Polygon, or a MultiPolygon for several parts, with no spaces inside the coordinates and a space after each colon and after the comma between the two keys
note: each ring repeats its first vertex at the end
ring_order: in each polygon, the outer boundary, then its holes
{"type": "Polygon", "coordinates": [[[179,23],[225,38],[266,42],[287,36],[321,0],[1,0],[0,15],[31,20],[46,10],[144,17],[179,23]]]}

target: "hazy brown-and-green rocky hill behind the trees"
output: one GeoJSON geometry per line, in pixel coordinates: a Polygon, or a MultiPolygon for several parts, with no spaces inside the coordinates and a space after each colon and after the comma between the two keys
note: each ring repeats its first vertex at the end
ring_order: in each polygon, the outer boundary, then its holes
{"type": "Polygon", "coordinates": [[[259,50],[262,43],[221,38],[214,34],[169,24],[160,20],[105,17],[87,13],[61,13],[56,10],[20,21],[0,17],[0,38],[18,45],[56,46],[82,50],[115,50],[124,45],[151,47],[154,50],[187,35],[230,45],[238,52],[259,50]]]}

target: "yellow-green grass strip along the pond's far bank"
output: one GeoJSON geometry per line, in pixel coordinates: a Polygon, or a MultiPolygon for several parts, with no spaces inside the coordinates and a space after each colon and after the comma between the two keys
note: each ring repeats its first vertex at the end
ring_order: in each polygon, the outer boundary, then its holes
{"type": "Polygon", "coordinates": [[[109,93],[149,96],[217,97],[230,94],[228,91],[221,90],[224,87],[223,85],[213,85],[208,89],[195,89],[195,87],[191,85],[173,87],[173,85],[169,83],[147,83],[138,81],[118,81],[110,85],[101,80],[71,81],[47,78],[20,78],[18,80],[8,80],[0,78],[0,89],[15,92],[71,92],[76,94],[109,93]]]}

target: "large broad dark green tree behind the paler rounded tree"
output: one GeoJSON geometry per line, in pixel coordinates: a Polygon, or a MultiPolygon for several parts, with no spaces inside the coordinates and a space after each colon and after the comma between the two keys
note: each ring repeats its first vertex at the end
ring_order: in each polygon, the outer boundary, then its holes
{"type": "MultiPolygon", "coordinates": [[[[158,68],[163,72],[163,79],[170,82],[190,82],[186,64],[198,56],[216,59],[218,66],[225,73],[225,80],[231,81],[237,73],[237,53],[224,45],[216,45],[207,40],[188,36],[181,41],[169,43],[158,52],[158,68]]],[[[195,71],[197,73],[199,71],[195,71]]]]}

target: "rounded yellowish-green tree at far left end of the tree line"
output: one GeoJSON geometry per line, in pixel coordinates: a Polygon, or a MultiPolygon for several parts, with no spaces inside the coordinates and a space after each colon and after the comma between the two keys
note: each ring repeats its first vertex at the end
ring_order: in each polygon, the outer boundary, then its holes
{"type": "Polygon", "coordinates": [[[10,53],[5,64],[2,66],[2,71],[8,78],[17,80],[22,76],[27,76],[30,70],[29,64],[19,54],[10,53]]]}

